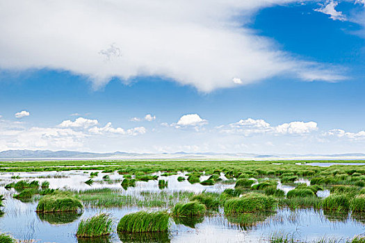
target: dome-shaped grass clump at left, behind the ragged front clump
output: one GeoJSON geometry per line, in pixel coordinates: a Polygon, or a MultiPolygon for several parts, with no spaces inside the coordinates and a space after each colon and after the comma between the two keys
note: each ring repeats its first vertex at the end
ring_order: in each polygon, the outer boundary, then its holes
{"type": "Polygon", "coordinates": [[[83,205],[79,199],[70,194],[51,194],[43,196],[38,202],[37,212],[68,212],[81,210],[83,205]]]}

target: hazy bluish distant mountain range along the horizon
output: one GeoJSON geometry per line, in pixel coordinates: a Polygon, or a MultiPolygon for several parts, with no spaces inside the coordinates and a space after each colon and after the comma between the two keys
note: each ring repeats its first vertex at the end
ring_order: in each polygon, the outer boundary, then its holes
{"type": "Polygon", "coordinates": [[[8,150],[0,152],[0,160],[34,160],[34,159],[365,159],[365,153],[341,154],[257,154],[257,153],[126,153],[116,151],[113,153],[91,153],[79,151],[50,151],[50,150],[8,150]]]}

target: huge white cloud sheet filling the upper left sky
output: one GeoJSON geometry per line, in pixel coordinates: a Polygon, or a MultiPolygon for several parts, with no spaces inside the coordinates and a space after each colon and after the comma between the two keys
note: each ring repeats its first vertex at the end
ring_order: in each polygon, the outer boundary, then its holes
{"type": "Polygon", "coordinates": [[[1,1],[0,68],[67,70],[94,87],[112,77],[162,76],[203,92],[283,74],[343,78],[330,65],[331,75],[321,75],[318,63],[294,58],[246,26],[259,9],[294,2],[1,1]]]}

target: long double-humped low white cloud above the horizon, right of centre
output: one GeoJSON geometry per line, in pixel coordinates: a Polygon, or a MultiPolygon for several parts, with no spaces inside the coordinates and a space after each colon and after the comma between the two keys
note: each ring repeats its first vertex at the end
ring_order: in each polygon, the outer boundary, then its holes
{"type": "Polygon", "coordinates": [[[238,134],[250,136],[254,134],[271,134],[271,135],[305,135],[318,130],[314,121],[292,121],[290,123],[271,126],[263,119],[241,119],[240,121],[229,124],[228,126],[217,127],[220,132],[228,134],[238,134]]]}

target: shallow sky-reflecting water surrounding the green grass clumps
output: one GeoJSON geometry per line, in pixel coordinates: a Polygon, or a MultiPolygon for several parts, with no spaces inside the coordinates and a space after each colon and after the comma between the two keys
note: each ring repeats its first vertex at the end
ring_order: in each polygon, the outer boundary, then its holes
{"type": "MultiPolygon", "coordinates": [[[[102,180],[102,176],[105,175],[102,173],[99,173],[97,177],[93,178],[96,182],[90,186],[84,183],[84,181],[88,180],[90,173],[84,174],[83,171],[17,173],[15,175],[18,174],[21,177],[34,179],[38,176],[63,176],[61,178],[37,178],[38,181],[49,181],[51,188],[65,187],[67,185],[68,188],[73,190],[102,187],[121,189],[120,181],[111,184],[106,183],[102,180]]],[[[122,179],[122,176],[116,173],[108,175],[111,177],[111,180],[122,179]]],[[[198,183],[191,185],[188,181],[178,182],[177,177],[181,175],[184,174],[161,176],[161,178],[168,181],[168,188],[163,189],[163,191],[167,193],[178,191],[199,193],[203,190],[222,192],[226,188],[234,187],[234,185],[221,183],[216,183],[213,186],[204,186],[198,183]]],[[[13,181],[19,181],[19,179],[11,179],[11,176],[13,174],[1,174],[2,181],[0,183],[5,185],[13,181]]],[[[207,177],[202,176],[202,181],[207,177]]],[[[307,181],[298,181],[298,183],[307,183],[307,181]]],[[[289,190],[285,185],[278,185],[278,187],[289,190]]],[[[121,190],[120,193],[137,195],[143,191],[161,192],[157,181],[149,181],[137,182],[136,187],[129,187],[128,190],[121,190]]],[[[78,242],[74,235],[81,219],[95,215],[98,212],[108,212],[113,215],[114,228],[116,228],[117,221],[124,215],[143,209],[137,207],[108,209],[85,208],[80,215],[38,214],[35,212],[36,202],[22,203],[17,199],[13,199],[14,193],[15,190],[5,190],[4,187],[0,187],[0,194],[6,194],[5,214],[0,217],[0,231],[10,233],[19,240],[34,239],[36,242],[78,242]]],[[[145,210],[161,210],[161,208],[149,208],[145,210]]],[[[365,217],[363,215],[336,215],[323,212],[323,210],[316,211],[313,209],[295,211],[286,208],[279,209],[277,212],[268,215],[266,218],[258,221],[256,225],[250,227],[241,227],[234,224],[234,220],[225,217],[221,209],[220,212],[214,215],[197,220],[195,227],[191,222],[185,224],[190,227],[184,224],[175,224],[171,220],[170,233],[168,235],[157,235],[156,237],[160,239],[159,242],[266,242],[270,235],[275,233],[294,234],[293,236],[300,240],[315,240],[323,236],[348,238],[365,232],[365,217]]],[[[136,240],[136,236],[134,237],[134,240],[136,240]]],[[[131,242],[131,235],[117,235],[114,232],[108,241],[93,241],[93,243],[99,242],[131,242]]],[[[149,241],[143,236],[140,242],[149,241]]]]}

